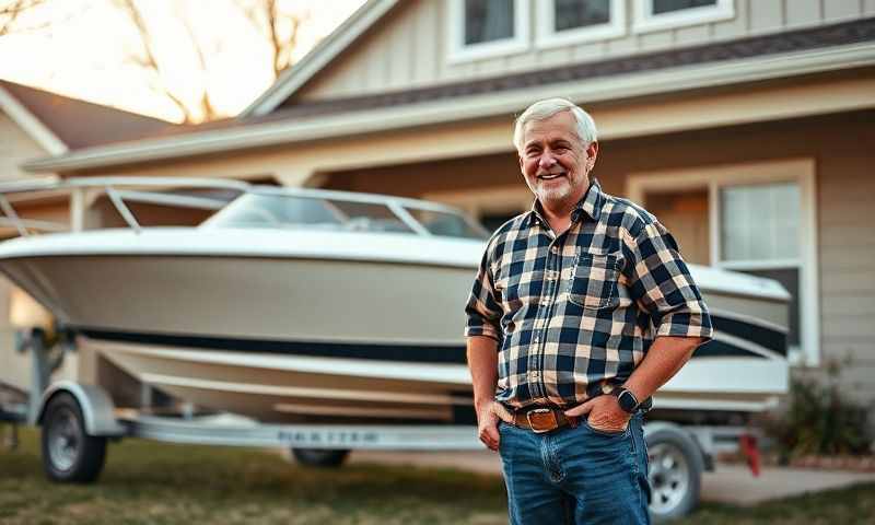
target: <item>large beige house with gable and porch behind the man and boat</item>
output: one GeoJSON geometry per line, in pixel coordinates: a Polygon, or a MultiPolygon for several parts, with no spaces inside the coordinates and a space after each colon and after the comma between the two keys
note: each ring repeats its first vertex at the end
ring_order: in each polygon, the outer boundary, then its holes
{"type": "Polygon", "coordinates": [[[875,397],[871,0],[370,0],[235,119],[21,167],[269,177],[495,225],[532,199],[513,117],[549,96],[595,118],[606,191],[691,261],[784,283],[792,362],[851,357],[844,390],[875,397]]]}

